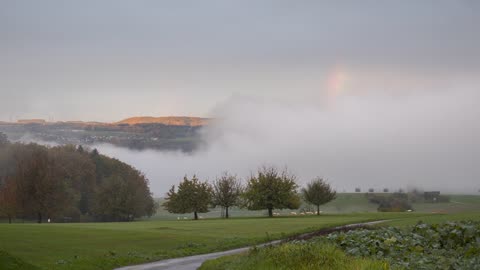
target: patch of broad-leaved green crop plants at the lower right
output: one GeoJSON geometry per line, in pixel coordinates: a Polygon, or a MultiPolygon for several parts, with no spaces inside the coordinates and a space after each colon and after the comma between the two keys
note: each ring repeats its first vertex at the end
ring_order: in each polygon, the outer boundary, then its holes
{"type": "Polygon", "coordinates": [[[327,239],[348,255],[385,259],[408,269],[480,269],[480,222],[418,223],[333,233],[327,239]]]}

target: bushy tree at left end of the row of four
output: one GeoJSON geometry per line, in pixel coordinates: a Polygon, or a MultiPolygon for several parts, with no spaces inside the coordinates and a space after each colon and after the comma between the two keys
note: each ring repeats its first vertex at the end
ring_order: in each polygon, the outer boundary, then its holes
{"type": "Polygon", "coordinates": [[[166,201],[163,207],[170,213],[194,214],[194,219],[198,219],[198,213],[208,212],[208,205],[212,201],[212,187],[207,182],[200,182],[194,175],[192,179],[187,176],[178,185],[178,191],[175,186],[167,193],[166,201]]]}

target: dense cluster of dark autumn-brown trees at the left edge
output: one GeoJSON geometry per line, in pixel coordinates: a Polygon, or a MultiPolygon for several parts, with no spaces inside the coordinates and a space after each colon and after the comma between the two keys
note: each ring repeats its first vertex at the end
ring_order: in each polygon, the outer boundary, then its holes
{"type": "Polygon", "coordinates": [[[81,146],[10,144],[0,136],[0,216],[131,221],[154,211],[148,179],[130,165],[81,146]]]}

